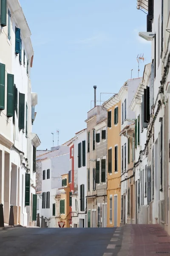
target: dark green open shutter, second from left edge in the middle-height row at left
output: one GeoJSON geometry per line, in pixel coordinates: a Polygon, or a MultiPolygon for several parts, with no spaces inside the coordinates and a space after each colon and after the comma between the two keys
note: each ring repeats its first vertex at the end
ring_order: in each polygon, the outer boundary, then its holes
{"type": "Polygon", "coordinates": [[[14,114],[14,75],[7,74],[7,116],[14,114]]]}

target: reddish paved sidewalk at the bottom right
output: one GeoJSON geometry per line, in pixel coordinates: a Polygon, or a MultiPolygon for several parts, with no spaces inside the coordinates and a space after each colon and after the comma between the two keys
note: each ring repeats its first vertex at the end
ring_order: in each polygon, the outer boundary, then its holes
{"type": "Polygon", "coordinates": [[[156,225],[125,225],[118,256],[170,256],[170,236],[156,225]]]}

